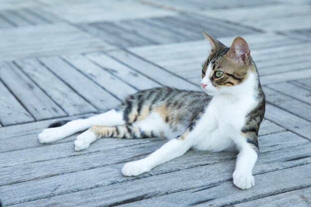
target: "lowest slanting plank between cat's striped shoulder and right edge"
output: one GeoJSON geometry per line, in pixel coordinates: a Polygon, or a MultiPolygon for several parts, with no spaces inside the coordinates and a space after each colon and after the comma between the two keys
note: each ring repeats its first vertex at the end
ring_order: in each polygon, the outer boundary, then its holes
{"type": "Polygon", "coordinates": [[[266,104],[265,118],[311,140],[311,123],[287,111],[266,104]]]}

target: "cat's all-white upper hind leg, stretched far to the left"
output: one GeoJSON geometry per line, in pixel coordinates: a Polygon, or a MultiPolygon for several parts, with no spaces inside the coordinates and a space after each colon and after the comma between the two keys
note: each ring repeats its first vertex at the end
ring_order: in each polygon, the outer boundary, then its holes
{"type": "MultiPolygon", "coordinates": [[[[56,123],[56,125],[57,124],[58,123],[56,123]]],[[[123,119],[123,110],[113,109],[87,119],[78,119],[68,122],[67,124],[60,127],[45,129],[38,135],[38,138],[41,143],[50,143],[62,138],[66,138],[77,132],[87,130],[94,125],[109,127],[124,124],[125,121],[123,119]]]]}

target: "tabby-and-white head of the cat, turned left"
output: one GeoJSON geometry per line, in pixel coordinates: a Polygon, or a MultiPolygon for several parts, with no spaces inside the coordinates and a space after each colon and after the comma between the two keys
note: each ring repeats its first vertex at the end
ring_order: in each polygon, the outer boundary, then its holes
{"type": "Polygon", "coordinates": [[[246,41],[241,37],[233,40],[231,48],[209,36],[211,52],[202,69],[201,86],[210,94],[233,93],[248,77],[252,63],[246,41]]]}

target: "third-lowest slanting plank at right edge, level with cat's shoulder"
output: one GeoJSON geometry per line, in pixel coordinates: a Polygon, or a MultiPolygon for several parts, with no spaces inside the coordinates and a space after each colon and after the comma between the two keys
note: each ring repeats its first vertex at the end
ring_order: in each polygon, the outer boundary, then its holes
{"type": "Polygon", "coordinates": [[[270,84],[268,87],[305,103],[311,104],[311,90],[307,90],[288,82],[270,84]]]}

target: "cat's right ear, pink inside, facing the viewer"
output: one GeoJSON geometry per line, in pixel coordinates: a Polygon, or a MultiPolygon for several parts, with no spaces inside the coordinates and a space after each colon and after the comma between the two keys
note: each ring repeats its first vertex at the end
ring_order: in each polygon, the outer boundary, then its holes
{"type": "Polygon", "coordinates": [[[236,37],[233,40],[232,46],[226,56],[239,65],[248,63],[250,51],[246,41],[241,37],[236,37]]]}

